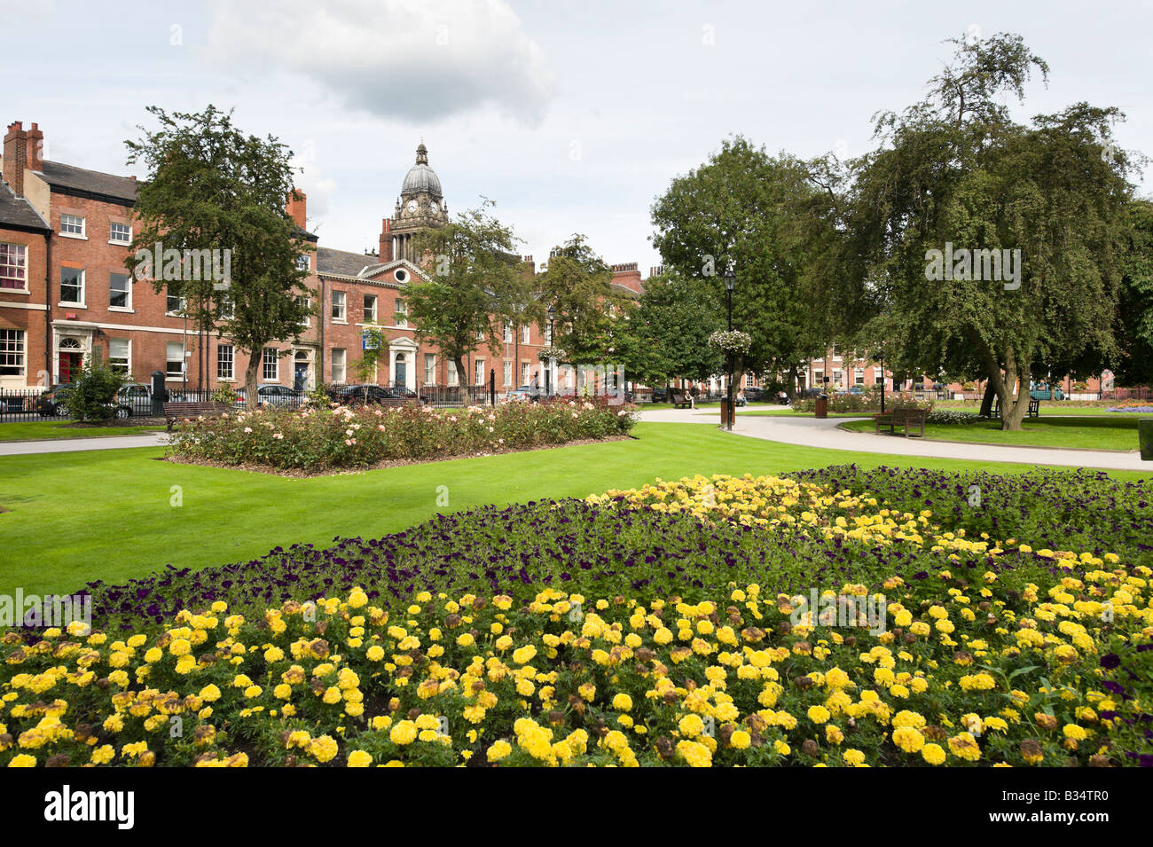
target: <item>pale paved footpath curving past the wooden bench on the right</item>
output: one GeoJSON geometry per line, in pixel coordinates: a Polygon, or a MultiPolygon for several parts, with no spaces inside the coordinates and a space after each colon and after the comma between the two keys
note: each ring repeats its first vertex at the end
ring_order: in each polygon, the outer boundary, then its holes
{"type": "MultiPolygon", "coordinates": [[[[641,413],[642,421],[668,423],[717,423],[721,413],[691,409],[654,409],[641,413]]],[[[988,444],[957,444],[929,441],[899,436],[877,436],[872,432],[846,432],[837,424],[864,418],[828,417],[817,419],[809,415],[741,415],[737,414],[733,433],[768,441],[782,441],[805,447],[860,451],[861,453],[890,453],[902,456],[932,456],[934,459],[966,459],[981,462],[1016,462],[1018,464],[1061,464],[1076,468],[1107,470],[1144,470],[1153,474],[1153,462],[1141,461],[1139,453],[1101,449],[1053,449],[1048,447],[1008,447],[988,444]]]]}

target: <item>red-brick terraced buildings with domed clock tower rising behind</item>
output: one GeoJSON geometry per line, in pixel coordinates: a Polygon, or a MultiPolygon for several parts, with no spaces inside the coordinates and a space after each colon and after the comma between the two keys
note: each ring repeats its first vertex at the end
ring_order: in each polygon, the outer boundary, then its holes
{"type": "MultiPolygon", "coordinates": [[[[148,383],[153,371],[169,388],[241,385],[246,355],[214,331],[201,333],[182,316],[179,292],[135,282],[126,269],[135,225],[136,180],[45,161],[44,134],[13,123],[3,139],[0,186],[0,388],[67,383],[89,356],[126,369],[148,383]]],[[[296,341],[262,354],[261,380],[297,388],[317,383],[357,381],[356,363],[377,334],[386,350],[370,381],[424,386],[477,385],[495,372],[499,391],[545,384],[537,351],[547,327],[512,326],[504,343],[468,357],[467,373],[421,343],[407,318],[405,288],[420,278],[414,235],[449,219],[440,181],[429,167],[423,142],[401,182],[394,213],[384,218],[379,245],[349,252],[307,232],[307,198],[287,211],[312,243],[302,256],[308,287],[318,304],[296,341]],[[375,332],[371,332],[375,331],[375,332]]],[[[535,273],[532,256],[522,257],[535,273]]],[[[613,266],[613,283],[639,293],[635,263],[613,266]]],[[[575,390],[582,375],[558,366],[557,388],[575,390]]]]}

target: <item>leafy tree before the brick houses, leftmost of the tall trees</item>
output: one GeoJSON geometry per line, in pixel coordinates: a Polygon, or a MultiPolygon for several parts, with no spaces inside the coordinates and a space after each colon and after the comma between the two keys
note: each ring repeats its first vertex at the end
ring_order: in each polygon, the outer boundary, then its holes
{"type": "Polygon", "coordinates": [[[311,247],[285,211],[294,191],[292,151],[272,136],[243,135],[231,112],[211,105],[197,114],[148,111],[160,128],[140,127],[141,137],[126,142],[128,161],[149,168],[127,266],[157,292],[175,287],[190,319],[214,325],[248,354],[244,386],[254,408],[264,349],[297,340],[314,311],[308,272],[297,267],[311,247]]]}

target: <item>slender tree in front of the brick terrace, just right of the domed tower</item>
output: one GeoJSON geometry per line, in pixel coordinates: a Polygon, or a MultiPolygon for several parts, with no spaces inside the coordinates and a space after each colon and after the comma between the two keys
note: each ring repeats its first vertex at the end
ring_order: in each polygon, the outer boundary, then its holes
{"type": "Polygon", "coordinates": [[[484,201],[455,221],[420,233],[425,279],[406,289],[416,336],[454,362],[461,379],[466,357],[485,343],[499,349],[504,324],[532,300],[530,274],[513,250],[519,239],[485,211],[491,205],[484,201]]]}

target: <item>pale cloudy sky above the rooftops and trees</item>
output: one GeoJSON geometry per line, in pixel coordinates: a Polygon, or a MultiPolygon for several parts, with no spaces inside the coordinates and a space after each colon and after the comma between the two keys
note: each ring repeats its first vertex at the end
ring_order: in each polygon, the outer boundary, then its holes
{"type": "Polygon", "coordinates": [[[1023,116],[1117,106],[1121,146],[1153,153],[1144,1],[0,0],[0,119],[38,122],[46,158],[133,173],[146,105],[234,107],[295,151],[310,227],[347,250],[376,244],[423,137],[450,212],[484,196],[522,254],[583,233],[647,274],[654,198],[722,138],[858,156],[966,33],[1049,62],[1023,116]]]}

